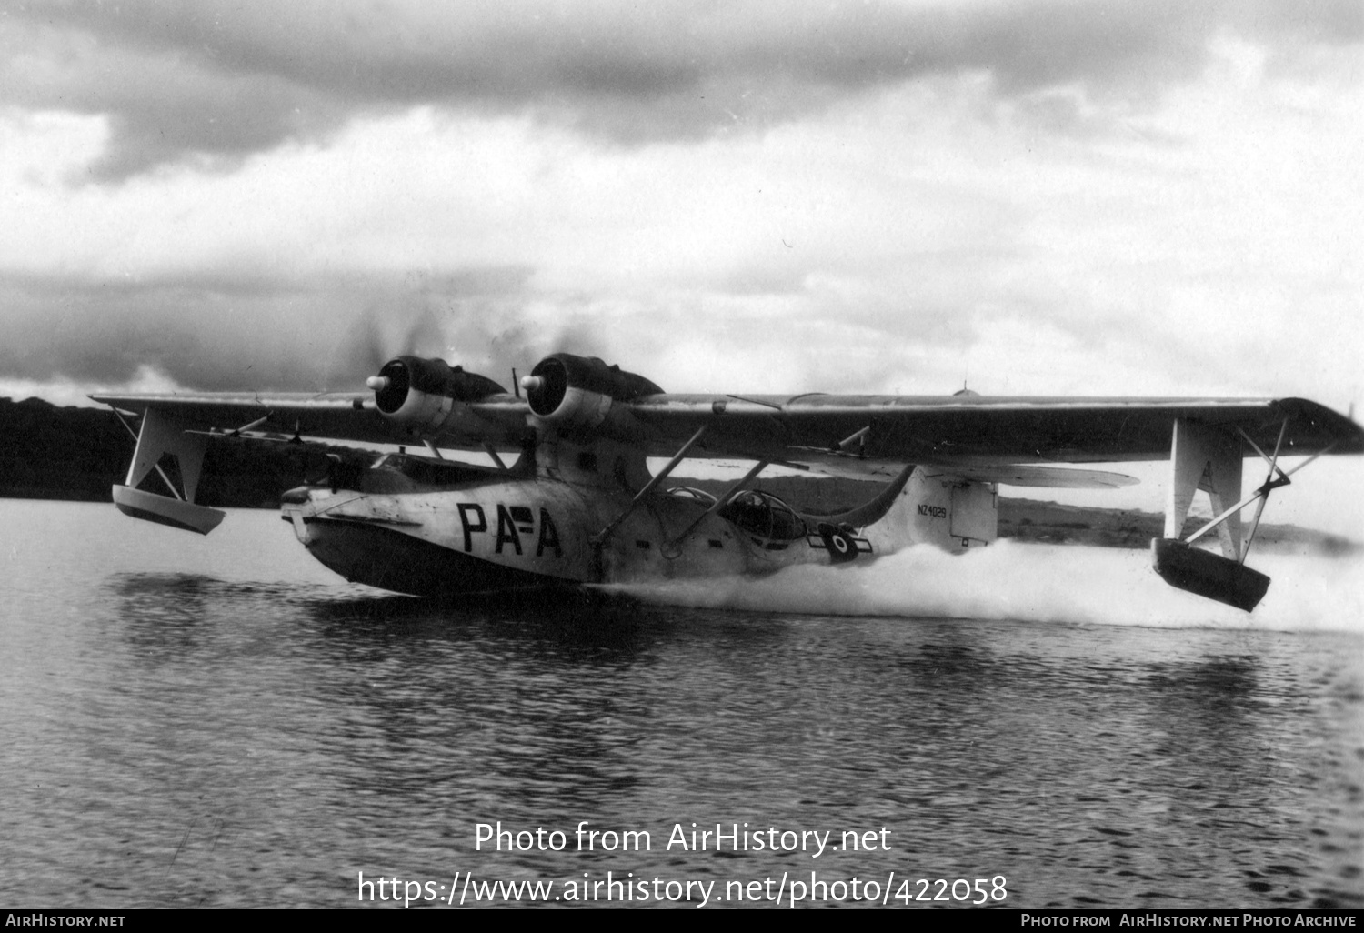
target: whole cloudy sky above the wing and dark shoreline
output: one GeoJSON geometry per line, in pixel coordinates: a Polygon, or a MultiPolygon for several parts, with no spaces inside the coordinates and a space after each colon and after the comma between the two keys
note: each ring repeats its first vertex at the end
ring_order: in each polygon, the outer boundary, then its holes
{"type": "Polygon", "coordinates": [[[1359,0],[18,3],[0,396],[1360,397],[1359,0]]]}

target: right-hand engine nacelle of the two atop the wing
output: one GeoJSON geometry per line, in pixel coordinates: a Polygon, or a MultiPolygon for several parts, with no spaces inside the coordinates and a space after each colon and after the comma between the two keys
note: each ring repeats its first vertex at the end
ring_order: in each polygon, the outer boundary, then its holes
{"type": "Polygon", "coordinates": [[[595,356],[572,353],[555,353],[536,363],[531,375],[521,379],[521,387],[525,389],[531,411],[542,421],[588,431],[603,427],[614,402],[663,391],[641,375],[607,366],[595,356]]]}

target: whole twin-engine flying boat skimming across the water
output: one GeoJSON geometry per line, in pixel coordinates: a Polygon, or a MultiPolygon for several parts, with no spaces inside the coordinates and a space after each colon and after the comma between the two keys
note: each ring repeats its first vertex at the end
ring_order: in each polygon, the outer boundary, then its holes
{"type": "Polygon", "coordinates": [[[346,580],[435,596],[762,576],[923,543],[959,552],[996,540],[1001,484],[1117,487],[1136,480],[1057,464],[1168,458],[1165,531],[1151,542],[1157,573],[1251,611],[1269,577],[1245,557],[1270,492],[1322,454],[1364,451],[1359,424],[1301,398],[671,394],[570,353],[547,356],[520,381],[513,372],[513,391],[416,356],[389,360],[367,387],[91,396],[142,420],[113,502],[207,535],[224,513],[196,503],[195,492],[216,438],[282,431],[300,443],[402,445],[368,466],[338,460],[329,476],[285,492],[282,513],[346,580]],[[495,465],[442,450],[481,450],[495,465]],[[168,456],[170,473],[161,465],[168,456]],[[1301,456],[1292,469],[1281,465],[1301,456]],[[667,465],[651,472],[651,457],[667,465]],[[1247,457],[1262,458],[1267,477],[1243,495],[1247,457]],[[687,458],[752,469],[720,495],[666,488],[687,458]],[[773,465],[883,487],[858,507],[810,514],[757,486],[773,465]],[[153,472],[170,495],[142,488],[153,472]],[[1215,517],[1181,539],[1199,490],[1215,517]],[[1247,529],[1241,509],[1252,502],[1247,529]],[[1219,552],[1195,547],[1213,533],[1219,552]]]}

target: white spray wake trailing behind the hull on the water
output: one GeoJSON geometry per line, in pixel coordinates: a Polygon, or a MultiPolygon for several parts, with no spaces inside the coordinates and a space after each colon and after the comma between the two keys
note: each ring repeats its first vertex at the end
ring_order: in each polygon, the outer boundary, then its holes
{"type": "Polygon", "coordinates": [[[1273,578],[1254,614],[1166,585],[1147,551],[1009,540],[963,555],[919,546],[865,563],[787,567],[757,580],[614,589],[668,606],[817,615],[1364,633],[1364,559],[1262,554],[1249,563],[1273,578]]]}

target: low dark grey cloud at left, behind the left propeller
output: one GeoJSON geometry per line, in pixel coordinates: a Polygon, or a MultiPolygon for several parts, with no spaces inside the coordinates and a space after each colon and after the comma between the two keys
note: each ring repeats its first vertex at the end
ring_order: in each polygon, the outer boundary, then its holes
{"type": "Polygon", "coordinates": [[[383,277],[289,288],[222,280],[0,284],[0,374],[124,386],[147,370],[206,390],[355,390],[397,353],[442,356],[510,387],[563,341],[528,327],[512,286],[524,270],[383,277]]]}

